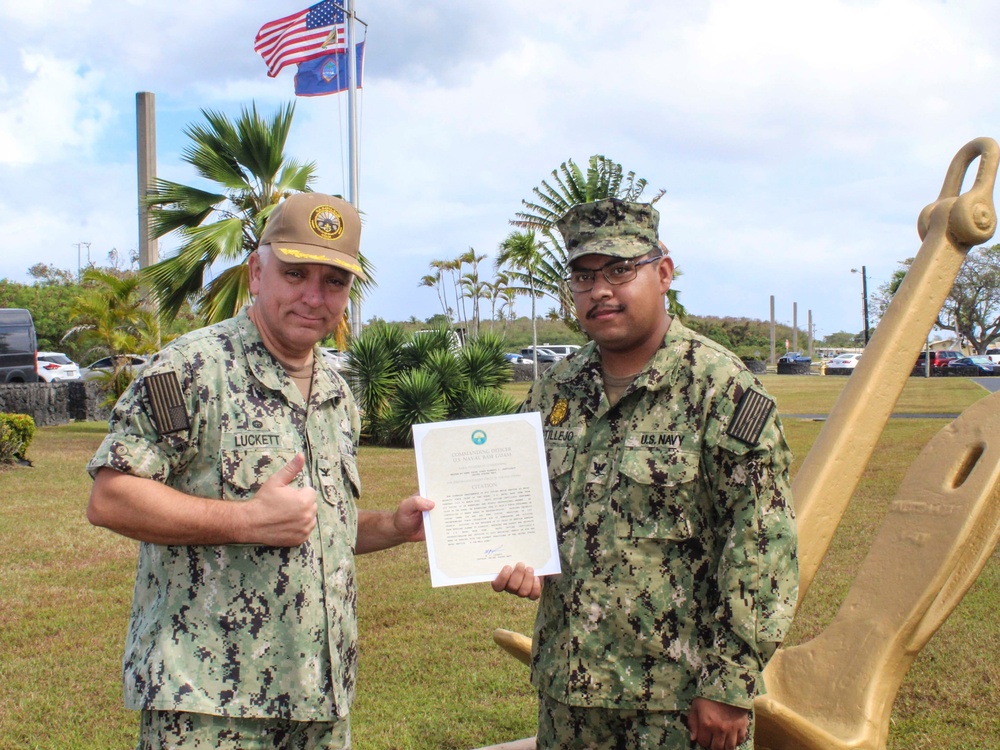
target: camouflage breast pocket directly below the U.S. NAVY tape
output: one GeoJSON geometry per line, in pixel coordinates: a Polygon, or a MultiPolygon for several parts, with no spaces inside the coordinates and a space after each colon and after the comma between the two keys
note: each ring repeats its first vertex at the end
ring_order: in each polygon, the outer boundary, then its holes
{"type": "Polygon", "coordinates": [[[698,455],[631,448],[619,467],[616,532],[620,537],[683,541],[697,534],[698,455]]]}

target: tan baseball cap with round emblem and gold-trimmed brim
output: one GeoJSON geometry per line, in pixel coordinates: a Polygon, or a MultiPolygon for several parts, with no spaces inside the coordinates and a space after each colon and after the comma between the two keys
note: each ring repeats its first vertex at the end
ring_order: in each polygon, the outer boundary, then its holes
{"type": "Polygon", "coordinates": [[[350,203],[323,193],[290,195],[271,211],[260,238],[285,263],[321,263],[367,277],[358,262],[361,218],[350,203]]]}

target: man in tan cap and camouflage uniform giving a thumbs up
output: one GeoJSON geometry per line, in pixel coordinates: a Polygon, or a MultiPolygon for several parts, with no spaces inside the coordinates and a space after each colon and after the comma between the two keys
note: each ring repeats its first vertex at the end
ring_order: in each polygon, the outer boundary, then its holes
{"type": "Polygon", "coordinates": [[[142,542],[124,659],[140,748],[350,746],[354,555],[422,539],[433,505],[355,505],[358,412],[316,344],[363,277],[360,231],[339,198],[280,203],[253,304],[154,357],[88,466],[91,522],[142,542]]]}

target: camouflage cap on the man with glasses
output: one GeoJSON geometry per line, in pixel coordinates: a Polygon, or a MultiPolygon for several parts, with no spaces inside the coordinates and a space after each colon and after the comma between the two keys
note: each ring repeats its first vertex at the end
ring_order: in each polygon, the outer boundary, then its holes
{"type": "Polygon", "coordinates": [[[556,222],[566,262],[583,255],[638,258],[659,248],[660,212],[649,203],[608,198],[573,206],[556,222]]]}

